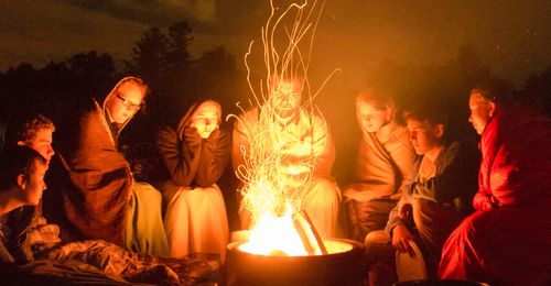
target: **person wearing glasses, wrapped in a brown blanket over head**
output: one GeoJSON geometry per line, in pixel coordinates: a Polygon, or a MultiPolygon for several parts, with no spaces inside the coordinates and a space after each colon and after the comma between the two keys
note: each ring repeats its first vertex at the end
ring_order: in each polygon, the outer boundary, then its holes
{"type": "Polygon", "coordinates": [[[134,183],[118,150],[119,135],[143,107],[148,90],[140,78],[122,78],[101,105],[90,98],[60,122],[43,215],[61,227],[64,241],[100,239],[140,253],[169,254],[161,195],[134,183]]]}

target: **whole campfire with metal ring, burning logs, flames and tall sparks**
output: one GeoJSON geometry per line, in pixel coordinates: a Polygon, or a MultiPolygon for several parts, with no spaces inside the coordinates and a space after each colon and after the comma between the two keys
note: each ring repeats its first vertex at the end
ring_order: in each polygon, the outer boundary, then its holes
{"type": "MultiPolygon", "coordinates": [[[[244,163],[236,175],[244,183],[239,190],[241,207],[250,215],[250,226],[247,235],[228,245],[227,284],[359,285],[361,245],[323,238],[303,208],[317,158],[313,135],[285,141],[285,127],[277,122],[282,114],[277,109],[288,107],[273,106],[278,102],[274,99],[278,92],[299,94],[305,99],[300,108],[307,111],[305,114],[317,112],[322,128],[327,130],[313,100],[331,76],[318,90],[312,90],[307,79],[311,45],[323,3],[304,1],[281,9],[270,1],[270,7],[271,14],[262,28],[267,77],[260,85],[250,79],[248,56],[253,43],[245,57],[247,80],[256,103],[251,106],[256,106],[259,116],[255,122],[247,122],[245,110],[244,117],[236,117],[248,140],[246,146],[240,146],[244,163]],[[288,21],[290,14],[294,20],[288,21]],[[279,30],[282,33],[277,33],[279,30]],[[306,53],[300,45],[304,38],[306,53]],[[282,42],[288,45],[281,45],[282,42]],[[300,88],[293,86],[298,77],[303,79],[300,88]]],[[[335,72],[337,69],[333,74],[335,72]]]]}

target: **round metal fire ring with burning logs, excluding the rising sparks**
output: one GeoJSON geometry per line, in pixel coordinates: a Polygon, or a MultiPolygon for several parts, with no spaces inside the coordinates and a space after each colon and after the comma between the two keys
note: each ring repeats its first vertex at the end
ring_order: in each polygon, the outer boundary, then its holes
{"type": "Polygon", "coordinates": [[[305,212],[261,220],[228,245],[228,285],[361,285],[359,243],[320,239],[305,212]]]}

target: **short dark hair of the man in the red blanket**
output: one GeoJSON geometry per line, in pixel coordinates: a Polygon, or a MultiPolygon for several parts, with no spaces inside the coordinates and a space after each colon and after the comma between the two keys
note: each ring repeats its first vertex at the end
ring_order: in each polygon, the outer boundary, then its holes
{"type": "Polygon", "coordinates": [[[511,82],[499,79],[479,82],[471,90],[471,95],[479,94],[483,101],[495,105],[510,103],[515,92],[515,86],[511,82]]]}

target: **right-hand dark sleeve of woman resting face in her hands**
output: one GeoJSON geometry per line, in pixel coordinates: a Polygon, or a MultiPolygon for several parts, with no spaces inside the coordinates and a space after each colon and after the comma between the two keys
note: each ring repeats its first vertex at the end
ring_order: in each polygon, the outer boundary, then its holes
{"type": "Polygon", "coordinates": [[[224,173],[229,160],[231,136],[225,130],[216,129],[203,141],[195,184],[199,187],[214,185],[224,173]]]}

